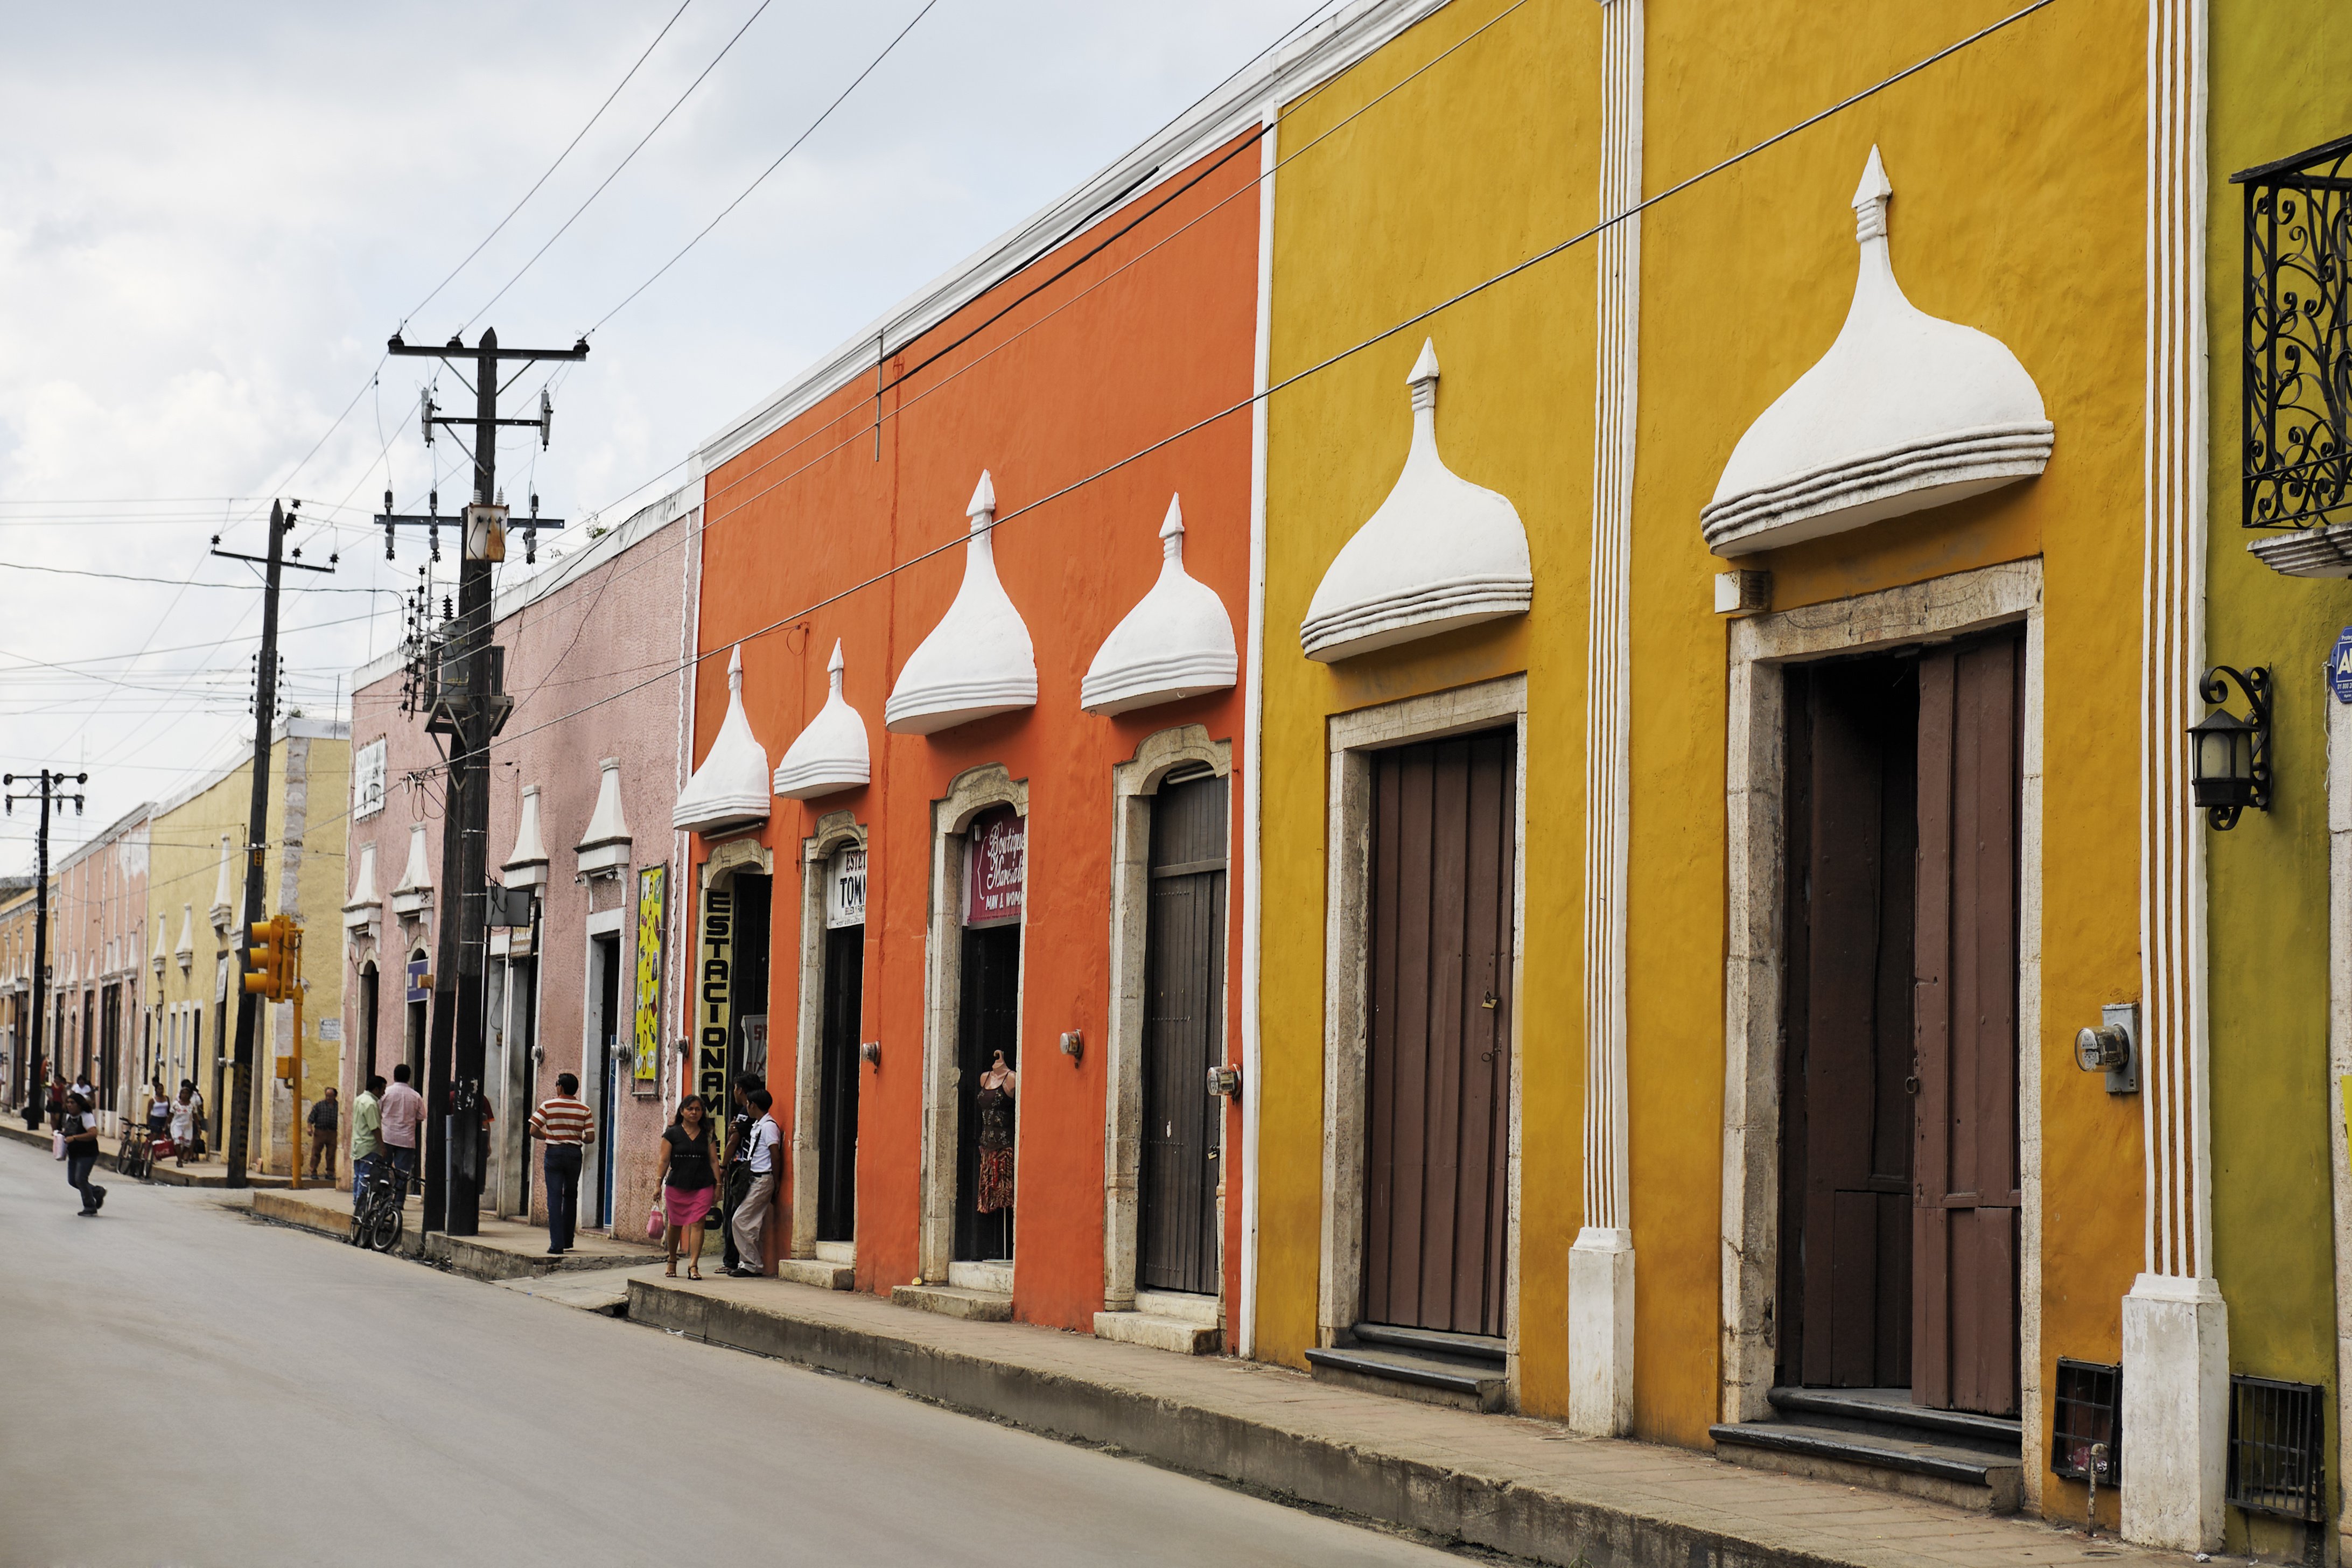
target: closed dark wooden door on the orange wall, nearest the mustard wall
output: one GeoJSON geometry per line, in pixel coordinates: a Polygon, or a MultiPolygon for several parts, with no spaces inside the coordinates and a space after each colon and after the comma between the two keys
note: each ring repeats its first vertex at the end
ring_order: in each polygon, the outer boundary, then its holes
{"type": "Polygon", "coordinates": [[[1216,1295],[1223,1157],[1209,1065],[1225,1060],[1225,780],[1152,795],[1143,924],[1143,1213],[1136,1284],[1216,1295]]]}

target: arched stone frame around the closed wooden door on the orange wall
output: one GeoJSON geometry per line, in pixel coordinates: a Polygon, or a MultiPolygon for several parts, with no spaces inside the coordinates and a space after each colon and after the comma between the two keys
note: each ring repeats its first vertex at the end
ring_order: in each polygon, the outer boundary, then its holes
{"type": "MultiPolygon", "coordinates": [[[[1176,769],[1207,766],[1216,778],[1232,778],[1232,741],[1211,741],[1200,724],[1162,729],[1136,743],[1136,755],[1110,769],[1110,1027],[1103,1048],[1108,1051],[1108,1081],[1103,1112],[1103,1312],[1136,1309],[1136,1237],[1141,1227],[1141,1171],[1143,1171],[1143,1018],[1148,999],[1143,994],[1145,931],[1150,924],[1150,858],[1152,858],[1152,795],[1176,769]]],[[[1232,802],[1225,802],[1228,839],[1232,830],[1232,802]]],[[[1232,872],[1228,853],[1228,907],[1232,872]]],[[[1225,969],[1232,969],[1232,943],[1225,945],[1225,969]]],[[[1223,980],[1218,1009],[1223,1009],[1223,980]]],[[[1230,1058],[1232,1041],[1225,1041],[1230,1058]]],[[[1225,1117],[1218,1117],[1218,1140],[1223,1143],[1225,1117]]],[[[1232,1168],[1235,1150],[1223,1147],[1218,1171],[1232,1168]]],[[[1218,1192],[1225,1182],[1218,1175],[1218,1192]]],[[[1225,1199],[1218,1197],[1218,1321],[1225,1300],[1225,1199]]]]}

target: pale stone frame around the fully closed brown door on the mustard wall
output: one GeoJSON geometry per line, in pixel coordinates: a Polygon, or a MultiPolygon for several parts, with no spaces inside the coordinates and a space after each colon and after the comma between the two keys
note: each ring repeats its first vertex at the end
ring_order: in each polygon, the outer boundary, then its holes
{"type": "Polygon", "coordinates": [[[1371,752],[1512,726],[1512,889],[1510,889],[1510,1135],[1503,1150],[1510,1225],[1503,1262],[1505,1375],[1519,1392],[1519,1058],[1526,1037],[1526,675],[1409,696],[1324,719],[1329,757],[1324,867],[1324,1150],[1322,1281],[1315,1295],[1315,1342],[1331,1347],[1355,1328],[1364,1300],[1364,1072],[1371,985],[1371,752]]]}

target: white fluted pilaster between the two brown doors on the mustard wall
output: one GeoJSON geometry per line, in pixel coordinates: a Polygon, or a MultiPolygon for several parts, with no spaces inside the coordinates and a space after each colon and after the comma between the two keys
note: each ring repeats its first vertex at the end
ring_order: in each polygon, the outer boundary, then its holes
{"type": "MultiPolygon", "coordinates": [[[[1642,200],[1642,0],[1602,0],[1602,219],[1642,200]]],[[[1628,564],[1642,360],[1642,219],[1599,235],[1592,585],[1585,661],[1585,1222],[1569,1248],[1569,1425],[1632,1429],[1632,1211],[1625,1173],[1628,564]]]]}

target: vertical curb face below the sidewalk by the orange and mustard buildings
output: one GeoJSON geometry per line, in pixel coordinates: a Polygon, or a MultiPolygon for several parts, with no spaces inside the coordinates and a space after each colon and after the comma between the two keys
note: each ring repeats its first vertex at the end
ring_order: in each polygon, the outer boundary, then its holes
{"type": "Polygon", "coordinates": [[[1174,1469],[1383,1519],[1538,1563],[1588,1568],[1853,1568],[1842,1559],[1597,1505],[1338,1443],[1225,1410],[1030,1366],[816,1324],[739,1300],[628,1281],[628,1321],[762,1356],[847,1373],[1049,1436],[1105,1443],[1174,1469]]]}

